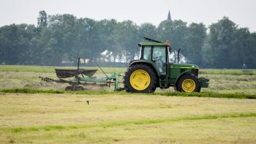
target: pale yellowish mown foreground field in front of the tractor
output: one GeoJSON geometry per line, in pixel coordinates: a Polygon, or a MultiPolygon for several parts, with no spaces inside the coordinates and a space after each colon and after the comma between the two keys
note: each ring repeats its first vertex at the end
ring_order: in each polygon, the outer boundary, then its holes
{"type": "Polygon", "coordinates": [[[148,94],[1,94],[0,141],[256,143],[255,105],[148,94]]]}

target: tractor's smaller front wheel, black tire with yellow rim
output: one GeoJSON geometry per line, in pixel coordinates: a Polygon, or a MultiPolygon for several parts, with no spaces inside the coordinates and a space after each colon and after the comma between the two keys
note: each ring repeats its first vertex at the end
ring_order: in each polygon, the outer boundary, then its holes
{"type": "MultiPolygon", "coordinates": [[[[184,87],[185,87],[185,84],[184,84],[184,87]]],[[[187,74],[182,76],[181,78],[178,79],[178,83],[176,85],[176,90],[181,92],[200,92],[200,89],[201,87],[200,87],[199,80],[193,74],[187,74]],[[186,83],[186,81],[189,81],[188,82],[189,86],[187,88],[183,88],[182,83],[186,83]],[[192,82],[192,85],[195,84],[195,87],[191,86],[191,82],[192,82]]]]}

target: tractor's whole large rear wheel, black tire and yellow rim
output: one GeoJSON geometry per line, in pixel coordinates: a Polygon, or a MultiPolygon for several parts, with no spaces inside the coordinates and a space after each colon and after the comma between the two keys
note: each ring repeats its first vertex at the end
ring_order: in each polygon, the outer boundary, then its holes
{"type": "Polygon", "coordinates": [[[124,88],[132,93],[153,93],[157,87],[157,74],[146,64],[135,64],[124,74],[124,88]]]}

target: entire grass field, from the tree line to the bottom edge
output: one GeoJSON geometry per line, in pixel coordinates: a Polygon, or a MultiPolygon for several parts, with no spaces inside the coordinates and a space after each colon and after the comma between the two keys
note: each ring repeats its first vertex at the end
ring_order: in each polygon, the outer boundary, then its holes
{"type": "Polygon", "coordinates": [[[256,143],[255,69],[200,69],[200,94],[128,94],[39,80],[54,68],[0,66],[0,143],[256,143]]]}

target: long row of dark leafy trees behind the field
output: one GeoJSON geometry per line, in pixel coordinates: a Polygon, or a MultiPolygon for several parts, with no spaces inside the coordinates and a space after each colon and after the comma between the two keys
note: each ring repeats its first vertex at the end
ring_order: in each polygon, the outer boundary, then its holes
{"type": "Polygon", "coordinates": [[[39,12],[37,26],[11,24],[0,28],[0,64],[59,66],[70,56],[100,58],[105,50],[113,59],[138,56],[143,37],[170,40],[172,51],[205,68],[256,68],[256,33],[238,27],[227,17],[206,27],[182,20],[163,20],[159,26],[131,20],[118,22],[47,15],[39,12]]]}

